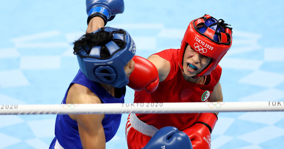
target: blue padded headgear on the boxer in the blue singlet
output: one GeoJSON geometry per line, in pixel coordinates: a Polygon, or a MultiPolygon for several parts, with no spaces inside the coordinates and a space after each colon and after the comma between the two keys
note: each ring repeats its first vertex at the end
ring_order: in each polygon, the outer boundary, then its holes
{"type": "Polygon", "coordinates": [[[80,70],[91,81],[108,84],[117,88],[124,87],[129,82],[129,78],[126,77],[124,71],[124,66],[135,55],[135,43],[128,32],[118,28],[106,27],[96,30],[93,33],[102,31],[112,34],[111,41],[105,44],[110,56],[101,58],[101,46],[91,48],[88,46],[81,47],[78,52],[74,49],[74,54],[77,54],[80,70]],[[124,45],[119,47],[114,42],[114,39],[123,41],[124,45]]]}

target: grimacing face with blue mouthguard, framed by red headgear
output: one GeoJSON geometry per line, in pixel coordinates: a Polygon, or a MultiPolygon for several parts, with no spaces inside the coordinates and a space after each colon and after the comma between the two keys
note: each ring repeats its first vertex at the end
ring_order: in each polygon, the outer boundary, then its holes
{"type": "Polygon", "coordinates": [[[208,66],[210,61],[210,57],[197,53],[190,45],[187,45],[183,56],[183,71],[185,75],[193,77],[208,66]]]}

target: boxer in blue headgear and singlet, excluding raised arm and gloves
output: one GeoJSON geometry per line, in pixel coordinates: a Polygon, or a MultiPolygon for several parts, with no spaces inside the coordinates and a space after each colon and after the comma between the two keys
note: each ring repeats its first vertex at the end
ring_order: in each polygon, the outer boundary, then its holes
{"type": "MultiPolygon", "coordinates": [[[[134,69],[135,44],[121,29],[102,28],[74,42],[80,70],[62,104],[123,103],[134,69]]],[[[50,149],[105,148],[116,133],[121,114],[57,115],[50,149]]]]}

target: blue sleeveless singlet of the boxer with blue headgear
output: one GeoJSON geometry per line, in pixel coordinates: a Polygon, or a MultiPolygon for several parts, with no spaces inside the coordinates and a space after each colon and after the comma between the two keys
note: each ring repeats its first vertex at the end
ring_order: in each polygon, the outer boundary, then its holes
{"type": "MultiPolygon", "coordinates": [[[[115,98],[110,95],[99,83],[90,81],[85,75],[79,70],[76,77],[70,83],[62,104],[66,103],[66,96],[69,88],[74,84],[81,84],[89,88],[95,95],[97,95],[103,103],[124,103],[124,95],[126,88],[122,87],[122,96],[115,98]]],[[[105,131],[105,139],[108,142],[116,133],[120,124],[121,114],[105,114],[105,118],[102,121],[103,128],[105,131]]],[[[65,148],[82,148],[77,121],[71,119],[68,115],[57,115],[55,121],[55,138],[51,142],[50,149],[53,148],[56,139],[59,144],[65,148]]]]}

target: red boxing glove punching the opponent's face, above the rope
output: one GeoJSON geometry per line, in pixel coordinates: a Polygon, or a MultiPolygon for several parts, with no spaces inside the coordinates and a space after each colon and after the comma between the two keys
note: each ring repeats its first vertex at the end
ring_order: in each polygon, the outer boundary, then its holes
{"type": "Polygon", "coordinates": [[[156,66],[149,60],[134,56],[134,70],[129,77],[128,86],[135,91],[146,89],[148,93],[153,93],[159,85],[159,73],[156,66]]]}

